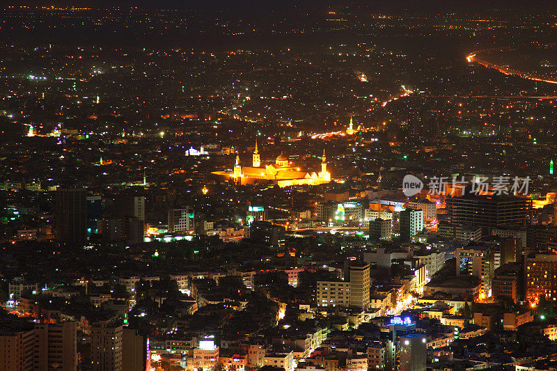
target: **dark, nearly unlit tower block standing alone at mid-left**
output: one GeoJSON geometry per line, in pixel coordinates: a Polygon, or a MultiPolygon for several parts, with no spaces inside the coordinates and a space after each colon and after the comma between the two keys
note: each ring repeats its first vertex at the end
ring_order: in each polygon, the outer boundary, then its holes
{"type": "Polygon", "coordinates": [[[83,244],[87,231],[87,202],[84,188],[56,190],[56,239],[83,244]]]}

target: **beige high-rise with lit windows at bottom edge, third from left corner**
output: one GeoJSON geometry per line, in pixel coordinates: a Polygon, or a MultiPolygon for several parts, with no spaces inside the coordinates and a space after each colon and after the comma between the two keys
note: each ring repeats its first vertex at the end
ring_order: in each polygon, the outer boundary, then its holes
{"type": "Polygon", "coordinates": [[[91,370],[121,371],[122,326],[102,321],[91,327],[91,370]]]}

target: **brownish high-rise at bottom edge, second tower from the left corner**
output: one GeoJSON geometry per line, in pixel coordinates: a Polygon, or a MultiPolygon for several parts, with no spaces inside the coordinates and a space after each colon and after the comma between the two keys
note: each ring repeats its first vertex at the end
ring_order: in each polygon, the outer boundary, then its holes
{"type": "Polygon", "coordinates": [[[77,370],[76,322],[35,325],[33,370],[77,370]]]}

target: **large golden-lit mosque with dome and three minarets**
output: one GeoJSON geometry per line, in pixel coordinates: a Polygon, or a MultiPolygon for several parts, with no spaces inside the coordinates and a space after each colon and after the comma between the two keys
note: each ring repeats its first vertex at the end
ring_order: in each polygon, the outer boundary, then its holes
{"type": "Polygon", "coordinates": [[[276,157],[275,163],[261,166],[261,159],[257,147],[253,151],[251,166],[242,166],[240,163],[240,155],[236,155],[236,164],[234,170],[230,171],[214,171],[212,174],[221,175],[233,179],[237,184],[250,184],[257,179],[272,180],[278,187],[290,187],[293,185],[317,185],[328,183],[331,181],[331,173],[327,171],[327,159],[325,150],[321,161],[321,171],[319,173],[308,173],[301,171],[298,166],[288,161],[282,152],[276,157]]]}

